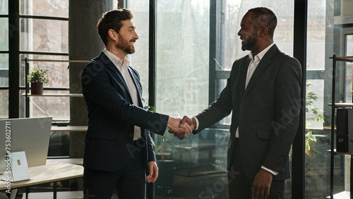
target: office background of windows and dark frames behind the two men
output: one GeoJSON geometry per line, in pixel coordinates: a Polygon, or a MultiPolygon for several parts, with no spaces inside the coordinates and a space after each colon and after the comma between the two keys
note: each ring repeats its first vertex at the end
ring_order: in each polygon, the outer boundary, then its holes
{"type": "MultiPolygon", "coordinates": [[[[350,0],[0,0],[0,118],[25,117],[25,57],[90,60],[104,45],[95,25],[104,11],[129,8],[140,37],[128,55],[140,73],[145,105],[172,116],[197,114],[225,87],[241,51],[237,35],[249,8],[267,6],[277,15],[274,42],[304,69],[304,97],[316,95],[301,113],[294,140],[286,198],[330,195],[332,66],[329,56],[353,55],[350,0]],[[315,114],[316,109],[318,111],[315,114]],[[318,114],[324,117],[318,119],[318,114]],[[306,133],[311,133],[309,137],[306,133]],[[316,138],[316,141],[310,138],[316,138]],[[307,148],[307,145],[310,148],[307,148]]],[[[80,93],[85,63],[33,61],[47,70],[44,93],[80,93]]],[[[337,63],[336,102],[352,102],[352,64],[337,63]]],[[[303,100],[302,104],[305,100],[303,100]]],[[[80,97],[30,97],[30,117],[54,124],[86,125],[80,97]]],[[[155,198],[227,198],[230,116],[186,140],[155,135],[160,175],[155,198]]],[[[83,157],[85,132],[56,132],[49,157],[83,157]]],[[[335,155],[333,191],[349,191],[349,155],[335,155]]]]}

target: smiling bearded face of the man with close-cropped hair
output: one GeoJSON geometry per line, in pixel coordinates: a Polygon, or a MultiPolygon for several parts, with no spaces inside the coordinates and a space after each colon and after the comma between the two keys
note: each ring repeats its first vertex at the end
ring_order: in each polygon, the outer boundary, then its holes
{"type": "Polygon", "coordinates": [[[258,49],[258,25],[252,18],[253,13],[248,12],[241,19],[241,29],[238,35],[241,39],[241,49],[243,51],[250,50],[251,52],[258,49]]]}

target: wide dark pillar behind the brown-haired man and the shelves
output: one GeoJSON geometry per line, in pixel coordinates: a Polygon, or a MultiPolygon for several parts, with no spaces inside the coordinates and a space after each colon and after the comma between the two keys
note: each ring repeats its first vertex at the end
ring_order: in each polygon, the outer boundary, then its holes
{"type": "MultiPolygon", "coordinates": [[[[68,14],[68,57],[70,60],[90,60],[98,56],[104,44],[97,33],[97,22],[102,13],[112,10],[112,0],[69,1],[68,14]]],[[[70,63],[70,92],[81,93],[80,73],[86,63],[70,63]]],[[[83,97],[71,97],[71,126],[88,123],[87,109],[83,97]]],[[[82,142],[85,132],[71,132],[82,142]]],[[[83,143],[71,136],[70,156],[83,157],[83,143]]]]}

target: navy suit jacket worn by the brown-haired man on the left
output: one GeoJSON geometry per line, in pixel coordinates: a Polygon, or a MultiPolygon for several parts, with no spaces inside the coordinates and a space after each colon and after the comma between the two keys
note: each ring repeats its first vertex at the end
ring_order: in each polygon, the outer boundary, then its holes
{"type": "Polygon", "coordinates": [[[141,149],[133,145],[133,126],[141,127],[145,162],[155,160],[150,132],[163,135],[169,116],[143,109],[138,72],[128,67],[138,90],[138,107],[133,105],[123,76],[102,52],[83,69],[82,92],[88,107],[83,167],[118,171],[141,149]]]}

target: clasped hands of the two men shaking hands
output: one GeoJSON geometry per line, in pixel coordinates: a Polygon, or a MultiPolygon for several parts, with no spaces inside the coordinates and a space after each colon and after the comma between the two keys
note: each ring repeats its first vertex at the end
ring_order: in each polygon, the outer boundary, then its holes
{"type": "Polygon", "coordinates": [[[184,116],[183,119],[169,116],[167,127],[169,133],[173,133],[175,137],[184,140],[196,127],[196,120],[189,118],[189,116],[184,116]]]}

